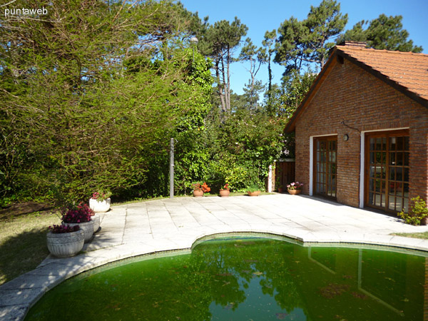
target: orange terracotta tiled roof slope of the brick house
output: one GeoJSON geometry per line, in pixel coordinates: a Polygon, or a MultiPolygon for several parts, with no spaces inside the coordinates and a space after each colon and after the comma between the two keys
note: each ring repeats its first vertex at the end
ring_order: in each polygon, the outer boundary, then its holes
{"type": "Polygon", "coordinates": [[[336,46],[337,50],[379,71],[428,101],[428,55],[336,46]]]}

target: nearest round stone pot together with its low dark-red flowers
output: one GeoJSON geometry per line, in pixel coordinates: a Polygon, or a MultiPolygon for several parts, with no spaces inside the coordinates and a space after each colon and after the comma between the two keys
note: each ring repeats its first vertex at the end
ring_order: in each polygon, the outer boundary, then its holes
{"type": "Polygon", "coordinates": [[[82,250],[85,233],[78,225],[54,225],[49,226],[49,230],[46,242],[51,254],[58,258],[68,258],[82,250]]]}

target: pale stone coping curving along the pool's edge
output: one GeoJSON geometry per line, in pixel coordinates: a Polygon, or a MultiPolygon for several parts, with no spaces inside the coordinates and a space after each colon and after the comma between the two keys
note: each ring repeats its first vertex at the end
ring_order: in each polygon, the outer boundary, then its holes
{"type": "MultiPolygon", "coordinates": [[[[281,233],[277,231],[268,231],[268,230],[257,230],[257,229],[245,229],[245,230],[232,230],[225,232],[214,232],[214,233],[201,233],[200,235],[193,237],[191,239],[190,246],[172,246],[171,248],[159,248],[152,251],[138,251],[135,250],[135,245],[143,243],[124,243],[121,245],[114,245],[108,248],[101,248],[97,250],[91,250],[79,255],[73,256],[71,258],[54,258],[52,255],[49,255],[39,267],[36,269],[16,277],[14,280],[0,285],[0,292],[10,291],[13,295],[13,291],[17,295],[24,296],[24,302],[21,304],[14,305],[2,305],[0,307],[0,318],[1,320],[24,320],[30,308],[40,300],[41,297],[56,285],[60,284],[64,280],[67,280],[70,277],[76,276],[81,272],[86,272],[95,267],[101,267],[108,263],[113,263],[119,260],[124,260],[128,258],[135,258],[142,255],[158,255],[159,253],[168,253],[176,252],[181,250],[192,250],[195,246],[195,243],[203,242],[204,238],[220,238],[221,235],[233,235],[240,234],[258,234],[258,235],[277,235],[279,237],[289,238],[291,240],[297,240],[297,242],[302,243],[302,246],[322,246],[322,245],[371,245],[371,246],[381,246],[387,248],[398,248],[402,252],[406,250],[415,250],[419,252],[425,252],[428,256],[428,240],[415,239],[415,238],[405,238],[398,235],[378,235],[378,234],[357,234],[357,233],[337,233],[335,237],[331,235],[326,237],[326,233],[303,233],[300,235],[292,235],[290,231],[287,233],[281,233]],[[325,238],[322,238],[325,236],[325,238]],[[337,240],[337,237],[340,240],[337,240]],[[132,245],[132,246],[131,246],[132,245]],[[128,248],[128,250],[126,250],[128,248]],[[110,253],[109,253],[110,252],[110,253]],[[95,255],[98,253],[98,255],[95,255]],[[92,254],[92,255],[91,255],[92,254]],[[108,256],[107,254],[111,254],[108,256]],[[83,259],[83,260],[81,260],[83,259]],[[75,262],[77,261],[77,262],[75,262]],[[81,263],[80,265],[78,263],[81,263]],[[63,270],[56,271],[58,274],[50,273],[46,274],[45,270],[49,270],[49,265],[54,265],[58,269],[63,267],[63,270]],[[36,278],[40,277],[42,280],[39,280],[39,283],[42,284],[40,287],[13,287],[13,283],[19,284],[20,280],[24,281],[26,278],[36,278]],[[49,279],[51,277],[51,280],[49,279]],[[46,280],[43,280],[46,279],[46,280]],[[9,288],[8,288],[9,287],[9,288]],[[28,300],[25,299],[28,297],[28,300]],[[3,313],[2,313],[3,312],[3,313]],[[3,317],[5,317],[3,319],[3,317]]],[[[190,236],[189,236],[190,238],[190,236]]],[[[23,284],[25,282],[21,282],[23,284]]]]}

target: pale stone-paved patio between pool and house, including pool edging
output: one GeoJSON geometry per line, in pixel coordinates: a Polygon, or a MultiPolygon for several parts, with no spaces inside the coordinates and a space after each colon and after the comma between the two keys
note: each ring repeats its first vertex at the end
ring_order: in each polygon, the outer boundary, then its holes
{"type": "Polygon", "coordinates": [[[180,197],[113,206],[81,255],[49,255],[39,267],[0,286],[0,320],[24,320],[44,292],[93,267],[136,255],[190,249],[221,233],[268,233],[314,243],[389,245],[428,251],[428,240],[391,233],[425,232],[397,218],[305,195],[180,197]]]}

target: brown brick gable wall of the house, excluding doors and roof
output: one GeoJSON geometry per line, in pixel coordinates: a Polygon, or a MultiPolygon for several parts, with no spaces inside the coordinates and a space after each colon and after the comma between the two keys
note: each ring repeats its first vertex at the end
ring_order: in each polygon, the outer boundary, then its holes
{"type": "Polygon", "coordinates": [[[296,121],[295,178],[306,183],[303,193],[309,193],[310,136],[337,134],[337,201],[358,207],[361,132],[409,127],[409,198],[427,200],[428,108],[347,59],[329,68],[296,121]]]}

